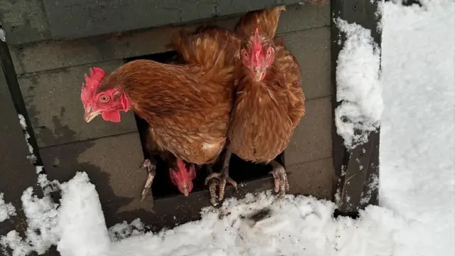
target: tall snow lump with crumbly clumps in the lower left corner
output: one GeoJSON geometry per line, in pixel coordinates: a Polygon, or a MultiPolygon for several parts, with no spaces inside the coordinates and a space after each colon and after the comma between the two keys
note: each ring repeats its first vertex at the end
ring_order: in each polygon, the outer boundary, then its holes
{"type": "MultiPolygon", "coordinates": [[[[41,177],[42,182],[47,181],[44,179],[45,176],[41,177]]],[[[48,194],[38,198],[33,195],[33,188],[24,191],[21,199],[28,225],[26,238],[11,230],[0,238],[0,245],[4,249],[9,247],[14,256],[33,251],[43,254],[51,245],[57,245],[62,256],[107,255],[110,241],[105,218],[87,174],[77,173],[58,189],[62,193],[60,206],[48,194]]]]}

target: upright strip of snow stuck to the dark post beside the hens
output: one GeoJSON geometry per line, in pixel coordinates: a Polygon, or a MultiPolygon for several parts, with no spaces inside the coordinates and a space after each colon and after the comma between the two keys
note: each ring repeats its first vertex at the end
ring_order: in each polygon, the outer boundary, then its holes
{"type": "Polygon", "coordinates": [[[346,41],[336,66],[335,111],[337,133],[348,149],[368,141],[378,129],[384,104],[380,82],[380,49],[370,30],[341,19],[336,26],[346,33],[346,41]]]}

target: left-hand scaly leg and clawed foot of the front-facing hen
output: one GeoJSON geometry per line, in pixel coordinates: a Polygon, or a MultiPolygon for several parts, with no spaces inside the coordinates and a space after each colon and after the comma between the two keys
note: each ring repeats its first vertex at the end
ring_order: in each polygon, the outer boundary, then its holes
{"type": "Polygon", "coordinates": [[[225,197],[225,188],[226,188],[226,183],[230,183],[234,188],[235,191],[237,191],[237,182],[235,182],[232,178],[229,176],[229,162],[230,162],[230,156],[232,155],[232,150],[230,147],[226,150],[225,153],[225,159],[223,161],[223,168],[219,173],[211,173],[205,178],[205,185],[209,184],[208,190],[210,191],[210,203],[213,204],[213,206],[216,206],[216,187],[220,189],[218,193],[218,198],[223,200],[225,197]]]}

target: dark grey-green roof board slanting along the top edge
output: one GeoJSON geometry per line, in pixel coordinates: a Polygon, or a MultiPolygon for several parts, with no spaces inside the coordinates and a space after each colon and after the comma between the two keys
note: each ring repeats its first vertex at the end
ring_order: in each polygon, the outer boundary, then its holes
{"type": "MultiPolygon", "coordinates": [[[[6,0],[0,0],[0,3],[6,0]]],[[[279,5],[302,4],[309,0],[232,0],[232,1],[150,1],[136,0],[134,5],[122,0],[53,1],[31,0],[33,9],[0,6],[0,18],[9,45],[43,40],[77,39],[109,33],[134,31],[166,25],[191,23],[221,16],[235,16],[247,11],[279,5]],[[27,9],[26,9],[27,10],[27,9]],[[33,13],[32,13],[33,12],[33,13]],[[37,14],[38,12],[38,14],[37,14]],[[39,18],[36,18],[36,16],[39,18]],[[18,22],[14,18],[21,17],[18,22]],[[39,21],[36,23],[36,21],[39,21]]]]}

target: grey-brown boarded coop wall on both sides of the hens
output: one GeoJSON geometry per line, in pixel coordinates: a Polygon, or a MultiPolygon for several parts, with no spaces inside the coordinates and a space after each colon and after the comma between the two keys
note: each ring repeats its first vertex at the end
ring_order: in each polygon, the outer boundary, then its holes
{"type": "MultiPolygon", "coordinates": [[[[238,18],[212,23],[232,28],[238,18]]],[[[286,151],[290,175],[301,177],[291,179],[292,192],[321,198],[330,198],[331,178],[326,177],[333,174],[332,165],[328,164],[332,118],[329,23],[328,5],[288,6],[277,35],[284,36],[296,56],[306,92],[306,117],[286,151]],[[318,176],[319,186],[304,183],[306,176],[318,176]]],[[[146,176],[145,171],[138,170],[143,160],[141,144],[132,112],[122,113],[119,124],[100,118],[85,123],[80,103],[83,73],[92,66],[113,70],[124,58],[163,52],[171,34],[178,29],[168,26],[75,41],[10,46],[50,178],[66,181],[76,171],[87,171],[97,185],[103,207],[111,213],[107,215],[109,223],[119,216],[127,218],[128,212],[132,217],[139,212],[150,213],[144,203],[137,201],[146,176]]]]}

